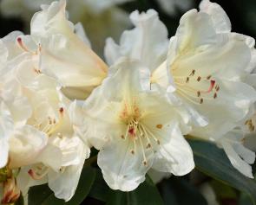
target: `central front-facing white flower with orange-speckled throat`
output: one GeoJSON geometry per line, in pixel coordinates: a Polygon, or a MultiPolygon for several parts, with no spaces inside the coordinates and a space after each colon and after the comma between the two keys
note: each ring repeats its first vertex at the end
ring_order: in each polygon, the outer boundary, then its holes
{"type": "Polygon", "coordinates": [[[111,189],[135,189],[150,168],[177,176],[194,169],[181,116],[148,88],[148,68],[125,59],[111,67],[83,106],[85,137],[100,150],[98,165],[111,189]]]}

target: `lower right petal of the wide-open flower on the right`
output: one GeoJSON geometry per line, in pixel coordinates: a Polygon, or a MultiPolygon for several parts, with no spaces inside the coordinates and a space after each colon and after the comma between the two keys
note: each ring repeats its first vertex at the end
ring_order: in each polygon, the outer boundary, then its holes
{"type": "Polygon", "coordinates": [[[220,86],[221,91],[216,100],[194,106],[207,118],[209,124],[205,127],[194,127],[192,135],[200,138],[221,138],[249,112],[256,96],[253,87],[229,80],[222,80],[220,86]]]}

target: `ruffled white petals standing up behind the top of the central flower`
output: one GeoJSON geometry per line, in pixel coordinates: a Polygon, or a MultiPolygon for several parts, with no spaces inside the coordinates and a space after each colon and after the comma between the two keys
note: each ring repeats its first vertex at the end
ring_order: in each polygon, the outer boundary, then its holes
{"type": "Polygon", "coordinates": [[[113,65],[121,57],[137,59],[153,70],[160,66],[167,54],[167,28],[159,20],[155,10],[141,13],[136,10],[130,15],[135,29],[121,35],[120,45],[107,40],[105,56],[108,65],[113,65]]]}

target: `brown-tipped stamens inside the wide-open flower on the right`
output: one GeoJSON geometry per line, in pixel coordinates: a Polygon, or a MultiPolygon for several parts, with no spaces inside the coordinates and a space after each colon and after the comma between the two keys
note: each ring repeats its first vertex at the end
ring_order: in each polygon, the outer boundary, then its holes
{"type": "Polygon", "coordinates": [[[176,76],[174,74],[174,83],[177,86],[177,92],[179,92],[184,98],[197,105],[203,104],[206,99],[217,99],[220,86],[216,85],[216,81],[213,80],[212,75],[202,77],[195,74],[195,70],[192,70],[188,76],[176,76]],[[204,82],[207,80],[209,86],[207,89],[195,89],[192,85],[192,80],[194,80],[194,83],[198,84],[201,83],[202,80],[204,80],[204,82]],[[209,97],[211,95],[212,97],[209,97]]]}

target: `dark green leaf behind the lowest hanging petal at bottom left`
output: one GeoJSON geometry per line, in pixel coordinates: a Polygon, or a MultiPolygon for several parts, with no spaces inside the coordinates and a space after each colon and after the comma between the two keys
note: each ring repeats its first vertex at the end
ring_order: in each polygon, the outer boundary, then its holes
{"type": "Polygon", "coordinates": [[[47,184],[32,187],[29,191],[29,205],[79,205],[89,194],[95,175],[93,168],[87,167],[82,170],[75,195],[69,202],[57,199],[47,184]]]}

